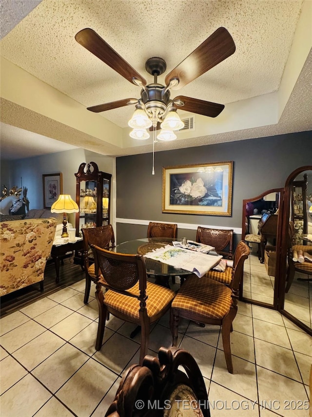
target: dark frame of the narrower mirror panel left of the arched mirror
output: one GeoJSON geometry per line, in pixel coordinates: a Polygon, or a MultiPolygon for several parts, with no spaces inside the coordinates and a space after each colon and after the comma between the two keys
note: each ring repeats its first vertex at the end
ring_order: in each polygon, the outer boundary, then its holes
{"type": "Polygon", "coordinates": [[[242,217],[242,241],[245,240],[245,219],[246,219],[246,204],[248,202],[253,202],[253,201],[257,201],[260,200],[261,198],[267,196],[268,194],[271,193],[279,193],[279,203],[278,203],[278,224],[277,224],[277,232],[276,232],[276,266],[275,266],[275,280],[274,280],[274,296],[273,296],[273,304],[268,304],[268,303],[264,303],[262,301],[257,301],[257,300],[253,300],[252,298],[246,298],[243,297],[243,284],[244,284],[244,276],[242,277],[242,279],[240,280],[240,287],[239,287],[239,300],[243,301],[245,303],[249,303],[249,304],[254,304],[256,306],[260,306],[260,307],[267,307],[267,308],[271,308],[274,310],[277,310],[277,306],[278,306],[278,288],[279,288],[279,280],[277,279],[278,275],[278,259],[279,259],[279,253],[280,253],[280,238],[279,238],[279,234],[278,234],[278,230],[280,228],[281,225],[281,213],[282,213],[282,203],[283,203],[283,188],[272,188],[271,190],[267,190],[264,193],[260,194],[257,197],[254,198],[245,198],[243,200],[243,217],[242,217]]]}

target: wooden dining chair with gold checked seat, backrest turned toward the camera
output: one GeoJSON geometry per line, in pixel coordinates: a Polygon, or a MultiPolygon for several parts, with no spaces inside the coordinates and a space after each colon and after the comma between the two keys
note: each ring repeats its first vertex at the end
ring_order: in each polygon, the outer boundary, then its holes
{"type": "Polygon", "coordinates": [[[141,326],[139,364],[147,353],[150,325],[169,310],[176,293],[147,282],[143,255],[111,252],[93,245],[95,253],[98,335],[96,350],[102,346],[107,313],[141,326]],[[102,291],[102,287],[106,291],[102,291]]]}

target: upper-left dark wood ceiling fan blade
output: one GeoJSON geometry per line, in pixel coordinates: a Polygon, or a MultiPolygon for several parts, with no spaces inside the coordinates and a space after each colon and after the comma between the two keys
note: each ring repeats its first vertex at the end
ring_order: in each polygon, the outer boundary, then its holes
{"type": "MultiPolygon", "coordinates": [[[[80,30],[75,36],[78,44],[84,46],[101,61],[115,69],[122,77],[133,83],[133,78],[139,80],[143,86],[146,80],[128,64],[114,49],[107,44],[93,29],[86,28],[80,30]]],[[[135,83],[133,83],[135,84],[135,83]]]]}

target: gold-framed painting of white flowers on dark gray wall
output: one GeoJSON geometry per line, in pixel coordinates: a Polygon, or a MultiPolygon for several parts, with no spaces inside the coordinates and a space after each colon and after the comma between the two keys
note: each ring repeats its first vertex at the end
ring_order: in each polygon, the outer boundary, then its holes
{"type": "Polygon", "coordinates": [[[232,216],[233,161],[162,169],[162,212],[232,216]]]}

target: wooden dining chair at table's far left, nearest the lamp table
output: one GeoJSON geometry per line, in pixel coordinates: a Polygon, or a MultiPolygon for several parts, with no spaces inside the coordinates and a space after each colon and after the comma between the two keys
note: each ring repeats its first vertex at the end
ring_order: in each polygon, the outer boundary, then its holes
{"type": "Polygon", "coordinates": [[[115,235],[111,224],[99,227],[82,228],[81,230],[83,237],[83,264],[86,274],[86,287],[83,302],[87,304],[90,295],[91,282],[96,282],[97,277],[91,245],[112,249],[115,247],[115,235]]]}

